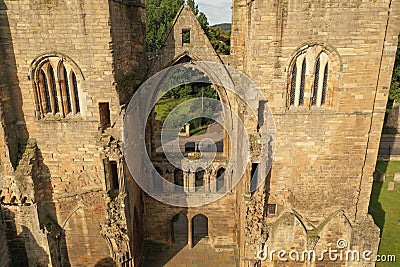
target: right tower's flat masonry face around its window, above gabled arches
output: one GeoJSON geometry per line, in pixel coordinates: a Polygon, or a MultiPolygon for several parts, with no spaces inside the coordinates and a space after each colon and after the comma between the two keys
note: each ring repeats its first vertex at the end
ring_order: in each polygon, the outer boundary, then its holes
{"type": "MultiPolygon", "coordinates": [[[[232,34],[232,54],[240,57],[244,47],[245,60],[238,68],[263,89],[277,127],[268,199],[277,204],[277,215],[268,216],[267,223],[294,210],[310,230],[343,209],[356,233],[355,222],[367,221],[399,33],[398,3],[234,2],[233,16],[247,11],[248,21],[233,20],[233,31],[239,33],[232,34]],[[243,39],[240,30],[246,27],[243,39]],[[329,70],[335,78],[328,86],[327,105],[288,108],[291,60],[302,47],[314,44],[337,55],[329,70]]],[[[312,86],[305,87],[308,104],[312,86]]],[[[364,236],[372,243],[378,240],[375,228],[371,225],[370,236],[364,236]]],[[[320,242],[327,245],[333,240],[320,242]]]]}

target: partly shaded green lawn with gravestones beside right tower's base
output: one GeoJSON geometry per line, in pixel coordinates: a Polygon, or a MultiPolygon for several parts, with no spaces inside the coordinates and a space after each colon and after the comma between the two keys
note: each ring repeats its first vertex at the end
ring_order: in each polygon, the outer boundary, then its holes
{"type": "MultiPolygon", "coordinates": [[[[400,173],[400,161],[378,162],[377,170],[386,173],[385,182],[375,181],[371,193],[370,213],[381,229],[380,255],[396,255],[397,263],[377,263],[376,266],[399,266],[400,261],[400,184],[388,191],[393,174],[400,173]],[[372,208],[372,209],[371,209],[372,208]]],[[[379,176],[379,174],[378,174],[379,176]]]]}

